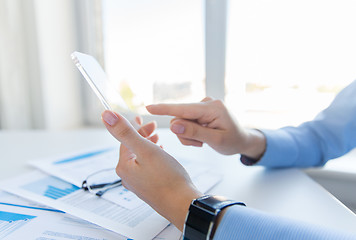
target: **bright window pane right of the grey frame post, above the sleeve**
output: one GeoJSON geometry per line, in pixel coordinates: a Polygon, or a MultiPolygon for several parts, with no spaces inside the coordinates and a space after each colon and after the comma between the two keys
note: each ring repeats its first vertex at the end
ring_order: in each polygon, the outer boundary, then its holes
{"type": "Polygon", "coordinates": [[[311,120],[356,78],[356,2],[230,1],[226,103],[247,126],[311,120]]]}

